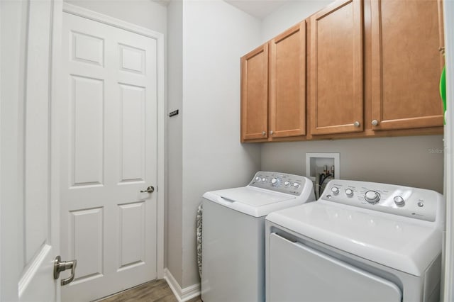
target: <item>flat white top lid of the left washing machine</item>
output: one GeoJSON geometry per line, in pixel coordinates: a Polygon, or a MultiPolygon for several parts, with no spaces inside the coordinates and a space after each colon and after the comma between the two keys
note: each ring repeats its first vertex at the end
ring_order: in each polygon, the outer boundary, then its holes
{"type": "Polygon", "coordinates": [[[297,196],[253,186],[210,191],[204,194],[204,198],[254,217],[267,216],[272,211],[304,202],[297,196]]]}

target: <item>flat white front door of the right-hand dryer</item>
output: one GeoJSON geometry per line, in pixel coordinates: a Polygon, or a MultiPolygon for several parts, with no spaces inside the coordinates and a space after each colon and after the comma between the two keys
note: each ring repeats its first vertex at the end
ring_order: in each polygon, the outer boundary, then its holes
{"type": "Polygon", "coordinates": [[[267,301],[402,301],[388,280],[276,233],[269,240],[267,301]]]}

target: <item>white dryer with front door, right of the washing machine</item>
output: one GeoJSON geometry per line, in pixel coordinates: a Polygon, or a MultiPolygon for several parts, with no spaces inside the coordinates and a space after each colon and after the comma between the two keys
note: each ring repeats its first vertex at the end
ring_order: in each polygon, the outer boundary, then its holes
{"type": "Polygon", "coordinates": [[[267,301],[439,301],[435,191],[336,179],[318,201],[266,219],[267,301]]]}

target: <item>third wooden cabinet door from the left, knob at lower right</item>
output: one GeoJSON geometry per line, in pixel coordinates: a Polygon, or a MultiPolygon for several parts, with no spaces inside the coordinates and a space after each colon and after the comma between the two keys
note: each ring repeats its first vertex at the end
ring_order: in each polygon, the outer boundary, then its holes
{"type": "Polygon", "coordinates": [[[336,1],[310,28],[311,133],[362,131],[362,0],[336,1]]]}

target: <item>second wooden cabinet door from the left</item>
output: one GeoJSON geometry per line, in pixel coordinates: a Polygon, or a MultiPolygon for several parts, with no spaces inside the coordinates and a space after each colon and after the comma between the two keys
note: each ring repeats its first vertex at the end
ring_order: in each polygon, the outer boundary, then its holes
{"type": "Polygon", "coordinates": [[[270,42],[270,137],[306,134],[306,22],[270,42]]]}

